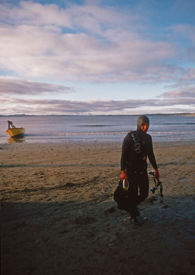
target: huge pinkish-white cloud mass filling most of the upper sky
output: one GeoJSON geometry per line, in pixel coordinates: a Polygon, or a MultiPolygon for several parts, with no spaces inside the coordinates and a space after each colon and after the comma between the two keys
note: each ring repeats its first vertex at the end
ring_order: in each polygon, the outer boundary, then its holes
{"type": "Polygon", "coordinates": [[[21,1],[0,5],[0,16],[0,68],[20,78],[155,82],[179,70],[167,63],[175,46],[143,38],[131,10],[21,1]]]}

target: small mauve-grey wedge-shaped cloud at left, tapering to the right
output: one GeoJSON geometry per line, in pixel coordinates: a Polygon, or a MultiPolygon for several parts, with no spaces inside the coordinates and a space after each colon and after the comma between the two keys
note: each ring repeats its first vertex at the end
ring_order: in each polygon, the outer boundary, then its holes
{"type": "Polygon", "coordinates": [[[0,77],[0,94],[2,95],[42,95],[44,93],[75,92],[73,87],[34,82],[10,77],[0,77]]]}

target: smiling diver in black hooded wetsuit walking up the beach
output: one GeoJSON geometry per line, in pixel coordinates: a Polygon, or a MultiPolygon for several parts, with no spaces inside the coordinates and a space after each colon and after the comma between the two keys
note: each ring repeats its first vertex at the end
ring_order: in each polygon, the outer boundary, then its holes
{"type": "Polygon", "coordinates": [[[131,222],[140,225],[137,205],[148,197],[149,179],[147,174],[147,157],[154,168],[155,177],[159,177],[152,138],[147,134],[149,119],[142,115],[137,119],[137,130],[129,132],[122,143],[120,179],[128,179],[128,203],[121,201],[118,208],[130,213],[131,222]],[[140,194],[138,195],[138,187],[140,194]]]}

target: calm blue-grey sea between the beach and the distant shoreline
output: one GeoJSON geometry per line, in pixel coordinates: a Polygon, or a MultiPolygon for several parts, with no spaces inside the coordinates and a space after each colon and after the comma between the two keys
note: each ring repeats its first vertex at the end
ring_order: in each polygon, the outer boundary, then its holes
{"type": "MultiPolygon", "coordinates": [[[[195,117],[147,115],[148,133],[153,143],[193,142],[195,117]]],[[[35,142],[122,142],[127,132],[136,130],[138,115],[104,116],[0,116],[0,143],[35,142]],[[6,133],[8,123],[25,128],[22,137],[6,133]]]]}

